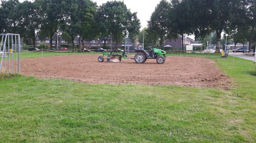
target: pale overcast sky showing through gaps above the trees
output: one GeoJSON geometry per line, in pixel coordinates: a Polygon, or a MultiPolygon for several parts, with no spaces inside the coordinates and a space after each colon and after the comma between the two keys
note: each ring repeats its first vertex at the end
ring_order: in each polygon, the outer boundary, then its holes
{"type": "MultiPolygon", "coordinates": [[[[24,0],[19,0],[23,2],[24,0]]],[[[33,1],[33,0],[28,0],[33,1]]],[[[97,5],[102,5],[102,3],[106,3],[108,0],[93,0],[93,2],[97,2],[97,5]]],[[[156,5],[161,0],[124,0],[128,9],[131,12],[137,12],[137,17],[140,19],[141,29],[147,27],[147,20],[150,19],[150,15],[154,12],[156,5]]],[[[194,38],[194,36],[189,36],[194,38]]]]}

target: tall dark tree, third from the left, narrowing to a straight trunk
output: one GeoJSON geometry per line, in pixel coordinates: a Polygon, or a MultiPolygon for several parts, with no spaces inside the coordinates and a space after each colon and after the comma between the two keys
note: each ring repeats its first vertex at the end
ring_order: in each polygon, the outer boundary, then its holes
{"type": "Polygon", "coordinates": [[[58,29],[62,17],[62,0],[35,0],[39,3],[43,11],[42,34],[50,38],[50,49],[52,49],[52,40],[58,29]]]}

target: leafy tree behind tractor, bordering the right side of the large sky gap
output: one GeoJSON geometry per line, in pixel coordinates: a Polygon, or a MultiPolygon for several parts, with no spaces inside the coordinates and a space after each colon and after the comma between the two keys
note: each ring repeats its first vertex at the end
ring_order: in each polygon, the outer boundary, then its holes
{"type": "Polygon", "coordinates": [[[159,44],[163,45],[164,40],[167,38],[168,34],[168,12],[171,9],[171,4],[166,0],[161,0],[157,4],[155,11],[152,13],[150,20],[148,21],[148,31],[149,34],[156,34],[159,36],[159,44]]]}

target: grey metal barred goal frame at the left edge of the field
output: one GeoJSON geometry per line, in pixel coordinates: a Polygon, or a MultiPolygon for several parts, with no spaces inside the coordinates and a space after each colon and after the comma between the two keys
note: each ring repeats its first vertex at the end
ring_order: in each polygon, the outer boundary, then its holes
{"type": "Polygon", "coordinates": [[[0,72],[21,71],[21,39],[19,34],[0,34],[0,72]]]}

